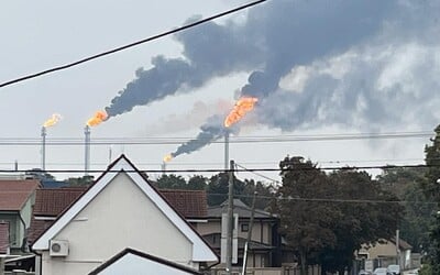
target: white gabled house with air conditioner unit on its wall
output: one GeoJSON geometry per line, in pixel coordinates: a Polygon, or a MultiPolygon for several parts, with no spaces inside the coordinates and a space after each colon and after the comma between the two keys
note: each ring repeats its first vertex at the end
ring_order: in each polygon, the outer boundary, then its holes
{"type": "Polygon", "coordinates": [[[194,271],[219,261],[124,155],[32,245],[42,275],[89,274],[127,248],[194,271]]]}

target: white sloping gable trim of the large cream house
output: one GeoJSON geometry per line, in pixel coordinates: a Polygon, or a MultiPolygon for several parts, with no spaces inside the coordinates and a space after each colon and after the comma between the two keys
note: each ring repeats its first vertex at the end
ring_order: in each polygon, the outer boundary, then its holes
{"type": "Polygon", "coordinates": [[[205,240],[177,213],[166,199],[148,183],[146,177],[124,156],[116,160],[108,169],[70,205],[32,245],[33,250],[48,250],[50,240],[61,232],[99,193],[120,173],[124,173],[158,210],[193,243],[193,261],[218,262],[219,258],[205,240]]]}

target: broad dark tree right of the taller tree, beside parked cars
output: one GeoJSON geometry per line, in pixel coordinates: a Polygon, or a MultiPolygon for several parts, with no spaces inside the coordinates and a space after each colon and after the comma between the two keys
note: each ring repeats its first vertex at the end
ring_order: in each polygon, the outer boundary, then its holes
{"type": "Polygon", "coordinates": [[[340,169],[331,173],[329,180],[340,217],[332,228],[336,245],[321,251],[320,264],[323,271],[343,274],[345,268],[351,270],[362,244],[394,237],[403,208],[395,204],[397,197],[382,190],[366,172],[340,169]]]}

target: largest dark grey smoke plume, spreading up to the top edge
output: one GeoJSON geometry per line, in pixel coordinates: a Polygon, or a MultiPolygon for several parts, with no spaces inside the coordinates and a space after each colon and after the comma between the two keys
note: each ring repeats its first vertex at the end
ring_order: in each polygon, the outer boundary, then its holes
{"type": "Polygon", "coordinates": [[[366,40],[395,10],[396,1],[277,0],[251,9],[245,23],[202,24],[175,36],[184,46],[182,58],[154,57],[153,67],[138,69],[106,111],[114,117],[213,77],[255,68],[264,73],[251,74],[243,92],[267,95],[294,64],[366,40]]]}

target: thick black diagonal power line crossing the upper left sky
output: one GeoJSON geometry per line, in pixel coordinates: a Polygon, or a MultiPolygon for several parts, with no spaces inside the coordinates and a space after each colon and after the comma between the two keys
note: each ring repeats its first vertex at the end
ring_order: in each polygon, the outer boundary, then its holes
{"type": "Polygon", "coordinates": [[[177,28],[177,29],[174,29],[174,30],[172,30],[172,31],[167,31],[167,32],[164,32],[164,33],[161,33],[161,34],[157,34],[157,35],[154,35],[154,36],[144,38],[144,40],[141,40],[141,41],[136,41],[136,42],[133,42],[133,43],[131,43],[131,44],[123,45],[123,46],[120,46],[120,47],[117,47],[117,48],[113,48],[113,50],[110,50],[110,51],[107,51],[107,52],[102,52],[102,53],[99,53],[99,54],[96,54],[96,55],[92,55],[92,56],[89,56],[89,57],[79,59],[79,61],[77,61],[77,62],[73,62],[73,63],[69,63],[69,64],[61,65],[61,66],[57,66],[57,67],[54,67],[54,68],[50,68],[50,69],[46,69],[46,70],[42,70],[42,72],[36,73],[36,74],[32,74],[32,75],[23,76],[23,77],[13,79],[13,80],[9,80],[9,81],[6,81],[6,82],[0,84],[0,88],[1,88],[1,87],[6,87],[6,86],[9,86],[9,85],[12,85],[12,84],[16,84],[16,82],[20,82],[20,81],[24,81],[24,80],[28,80],[28,79],[31,79],[31,78],[35,78],[35,77],[38,77],[38,76],[43,76],[43,75],[46,75],[46,74],[50,74],[50,73],[54,73],[54,72],[57,72],[57,70],[67,69],[67,68],[70,68],[70,67],[80,65],[80,64],[82,64],[82,63],[87,63],[87,62],[90,62],[90,61],[94,61],[94,59],[103,57],[103,56],[106,56],[106,55],[114,54],[114,53],[124,51],[124,50],[127,50],[127,48],[134,47],[134,46],[138,46],[138,45],[141,45],[141,44],[144,44],[144,43],[146,43],[146,42],[151,42],[151,41],[153,41],[153,40],[157,40],[157,38],[161,38],[161,37],[163,37],[163,36],[167,36],[167,35],[169,35],[169,34],[174,34],[174,33],[177,33],[177,32],[182,32],[182,31],[184,31],[184,30],[187,30],[187,29],[190,29],[190,28],[194,28],[194,26],[204,24],[204,23],[206,23],[206,22],[208,22],[208,21],[212,21],[212,20],[222,18],[222,16],[224,16],[224,15],[228,15],[228,14],[231,14],[231,13],[234,13],[234,12],[238,12],[238,11],[241,11],[241,10],[244,10],[244,9],[249,9],[249,8],[253,7],[253,6],[263,3],[263,2],[265,2],[265,1],[267,1],[267,0],[254,1],[254,2],[251,2],[251,3],[244,4],[244,6],[238,7],[238,8],[235,8],[235,9],[228,10],[228,11],[224,11],[224,12],[221,12],[221,13],[218,13],[218,14],[215,14],[215,15],[209,16],[209,18],[207,18],[207,19],[202,19],[202,20],[196,21],[196,22],[194,22],[194,23],[189,23],[189,24],[183,25],[183,26],[177,28]]]}

